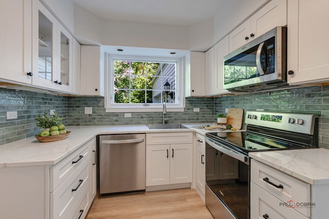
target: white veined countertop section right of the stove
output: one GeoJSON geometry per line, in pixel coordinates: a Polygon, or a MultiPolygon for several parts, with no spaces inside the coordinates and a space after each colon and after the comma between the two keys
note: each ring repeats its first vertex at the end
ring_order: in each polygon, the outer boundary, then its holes
{"type": "Polygon", "coordinates": [[[306,183],[329,184],[329,150],[327,149],[250,152],[249,156],[306,183]]]}

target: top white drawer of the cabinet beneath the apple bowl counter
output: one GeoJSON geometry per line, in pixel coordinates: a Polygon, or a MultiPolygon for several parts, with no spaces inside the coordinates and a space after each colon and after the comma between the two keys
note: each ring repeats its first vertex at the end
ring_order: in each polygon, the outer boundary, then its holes
{"type": "Polygon", "coordinates": [[[89,143],[65,157],[58,164],[50,167],[50,192],[55,191],[86,160],[90,154],[89,143]]]}

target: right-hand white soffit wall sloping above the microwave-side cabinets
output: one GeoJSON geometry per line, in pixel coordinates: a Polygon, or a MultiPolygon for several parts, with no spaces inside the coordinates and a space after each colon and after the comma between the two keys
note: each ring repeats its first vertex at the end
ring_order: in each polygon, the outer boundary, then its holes
{"type": "Polygon", "coordinates": [[[270,0],[225,1],[223,7],[218,9],[213,22],[213,44],[239,26],[246,17],[258,11],[260,7],[270,0]]]}

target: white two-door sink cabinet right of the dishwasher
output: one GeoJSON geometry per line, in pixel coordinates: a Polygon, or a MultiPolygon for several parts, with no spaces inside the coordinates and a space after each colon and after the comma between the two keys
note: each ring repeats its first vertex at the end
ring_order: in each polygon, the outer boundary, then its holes
{"type": "Polygon", "coordinates": [[[192,132],[146,136],[146,186],[191,183],[192,132]]]}

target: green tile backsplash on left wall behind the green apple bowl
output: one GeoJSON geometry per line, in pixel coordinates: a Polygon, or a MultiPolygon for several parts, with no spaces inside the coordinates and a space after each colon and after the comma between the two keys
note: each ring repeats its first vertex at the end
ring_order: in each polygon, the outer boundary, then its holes
{"type": "MultiPolygon", "coordinates": [[[[56,110],[66,118],[67,98],[45,93],[0,88],[0,145],[8,144],[40,132],[35,116],[56,110]],[[17,118],[7,120],[7,111],[17,111],[17,118]]],[[[66,120],[63,121],[66,124],[66,120]]]]}

